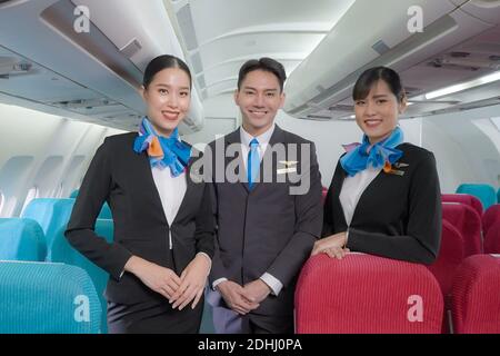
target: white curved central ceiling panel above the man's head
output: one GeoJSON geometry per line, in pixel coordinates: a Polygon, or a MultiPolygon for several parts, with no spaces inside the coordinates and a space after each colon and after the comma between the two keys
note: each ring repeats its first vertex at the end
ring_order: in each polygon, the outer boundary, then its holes
{"type": "Polygon", "coordinates": [[[353,0],[166,0],[203,99],[232,92],[249,59],[271,57],[290,72],[353,0]]]}

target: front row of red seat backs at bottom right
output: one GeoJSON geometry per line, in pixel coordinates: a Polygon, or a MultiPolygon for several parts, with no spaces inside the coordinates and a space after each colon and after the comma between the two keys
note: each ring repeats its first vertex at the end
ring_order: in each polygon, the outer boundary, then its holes
{"type": "MultiPolygon", "coordinates": [[[[500,333],[500,258],[474,255],[451,286],[452,332],[500,333]]],[[[300,334],[439,334],[441,288],[422,265],[363,254],[308,260],[296,290],[300,334]]]]}

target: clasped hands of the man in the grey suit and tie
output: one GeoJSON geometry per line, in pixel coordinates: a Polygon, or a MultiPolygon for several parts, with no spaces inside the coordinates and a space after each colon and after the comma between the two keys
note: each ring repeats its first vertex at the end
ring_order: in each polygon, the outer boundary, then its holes
{"type": "Polygon", "coordinates": [[[224,280],[217,285],[217,289],[226,304],[240,315],[257,309],[271,293],[271,288],[261,279],[252,280],[244,286],[232,280],[224,280]]]}

